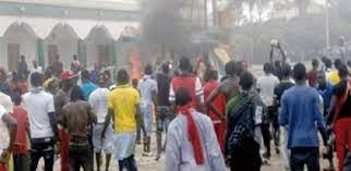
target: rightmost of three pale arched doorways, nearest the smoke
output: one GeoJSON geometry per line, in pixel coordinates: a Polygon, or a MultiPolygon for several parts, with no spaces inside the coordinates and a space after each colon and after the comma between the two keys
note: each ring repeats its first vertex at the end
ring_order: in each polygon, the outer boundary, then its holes
{"type": "Polygon", "coordinates": [[[111,63],[111,44],[113,39],[105,26],[95,26],[85,38],[86,65],[93,66],[95,62],[99,64],[111,63]]]}

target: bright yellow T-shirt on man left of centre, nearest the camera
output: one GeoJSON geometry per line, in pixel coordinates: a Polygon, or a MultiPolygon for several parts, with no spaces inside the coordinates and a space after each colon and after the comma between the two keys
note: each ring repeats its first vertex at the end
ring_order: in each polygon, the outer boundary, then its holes
{"type": "Polygon", "coordinates": [[[129,85],[118,86],[109,94],[108,108],[113,111],[116,133],[136,131],[135,106],[138,103],[138,91],[129,85]]]}

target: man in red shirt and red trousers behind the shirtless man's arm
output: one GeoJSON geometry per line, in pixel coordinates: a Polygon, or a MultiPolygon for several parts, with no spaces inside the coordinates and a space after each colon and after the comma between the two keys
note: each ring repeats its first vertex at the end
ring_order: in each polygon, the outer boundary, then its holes
{"type": "MultiPolygon", "coordinates": [[[[218,72],[215,70],[208,70],[205,73],[206,84],[204,86],[204,98],[206,99],[211,91],[214,91],[218,86],[218,72]]],[[[221,114],[226,112],[226,97],[223,95],[219,95],[214,100],[214,107],[219,110],[221,114]]],[[[221,118],[217,117],[215,112],[213,112],[207,105],[205,105],[206,114],[211,119],[215,127],[215,132],[217,135],[217,139],[220,146],[221,151],[225,151],[225,135],[226,135],[226,121],[221,118]]],[[[225,115],[222,115],[225,118],[225,115]]]]}

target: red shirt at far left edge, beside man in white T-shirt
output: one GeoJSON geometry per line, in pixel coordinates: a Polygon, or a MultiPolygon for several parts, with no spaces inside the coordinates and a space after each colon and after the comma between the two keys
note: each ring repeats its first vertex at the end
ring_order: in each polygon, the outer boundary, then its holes
{"type": "Polygon", "coordinates": [[[27,126],[28,114],[27,111],[19,106],[13,107],[12,117],[17,121],[17,135],[15,139],[14,154],[27,154],[27,126]]]}

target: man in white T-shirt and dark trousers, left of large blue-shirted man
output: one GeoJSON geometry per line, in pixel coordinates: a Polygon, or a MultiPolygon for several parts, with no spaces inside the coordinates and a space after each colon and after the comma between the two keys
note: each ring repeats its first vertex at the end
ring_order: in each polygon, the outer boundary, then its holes
{"type": "Polygon", "coordinates": [[[276,107],[274,106],[274,95],[275,87],[279,84],[279,78],[273,75],[274,66],[270,63],[264,64],[265,74],[261,76],[257,81],[257,90],[259,91],[261,99],[266,105],[268,110],[269,122],[262,124],[262,134],[264,137],[264,144],[266,147],[266,152],[264,157],[266,159],[270,158],[270,122],[274,127],[274,141],[276,146],[276,151],[279,154],[279,124],[278,124],[278,114],[276,107]]]}

